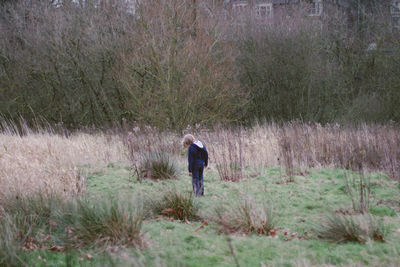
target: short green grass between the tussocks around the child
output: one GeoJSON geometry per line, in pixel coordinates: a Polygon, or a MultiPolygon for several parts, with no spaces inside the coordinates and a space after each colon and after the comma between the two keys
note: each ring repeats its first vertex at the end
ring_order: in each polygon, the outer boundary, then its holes
{"type": "MultiPolygon", "coordinates": [[[[190,192],[191,178],[186,174],[185,163],[184,159],[178,163],[181,173],[185,173],[178,179],[144,179],[141,183],[131,176],[127,166],[109,164],[103,171],[88,177],[87,195],[104,199],[119,197],[132,202],[132,199],[159,199],[172,187],[179,192],[190,192]]],[[[382,173],[371,174],[370,212],[386,225],[386,242],[334,244],[318,239],[312,231],[315,224],[321,223],[332,211],[351,210],[351,199],[344,192],[349,171],[311,169],[305,176],[295,176],[295,182],[288,184],[282,183],[284,172],[278,168],[259,171],[260,175],[254,178],[233,183],[220,181],[215,169],[207,170],[205,196],[194,199],[203,221],[185,223],[165,216],[149,217],[142,224],[143,248],[120,247],[118,252],[104,252],[93,247],[74,250],[71,254],[73,266],[99,265],[104,257],[108,259],[103,261],[106,266],[129,266],[132,261],[144,266],[234,266],[227,236],[219,232],[220,227],[212,222],[212,218],[216,207],[238,203],[246,196],[273,206],[274,226],[279,228],[279,234],[275,237],[232,234],[231,244],[240,266],[400,265],[400,233],[396,232],[400,228],[399,214],[385,204],[400,200],[395,181],[382,173]],[[300,238],[288,241],[284,229],[300,238]],[[86,253],[91,253],[93,258],[87,259],[86,253]]],[[[140,204],[145,205],[145,201],[140,204]]],[[[66,263],[65,253],[31,251],[26,255],[30,255],[33,266],[63,266],[66,263]],[[47,262],[39,260],[38,255],[47,262]]]]}

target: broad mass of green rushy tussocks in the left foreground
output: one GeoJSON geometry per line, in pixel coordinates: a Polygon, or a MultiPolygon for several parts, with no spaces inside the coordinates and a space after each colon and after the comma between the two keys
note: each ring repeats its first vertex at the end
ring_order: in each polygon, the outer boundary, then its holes
{"type": "Polygon", "coordinates": [[[0,206],[0,263],[14,266],[34,249],[141,246],[141,225],[141,212],[117,200],[10,198],[0,206]]]}

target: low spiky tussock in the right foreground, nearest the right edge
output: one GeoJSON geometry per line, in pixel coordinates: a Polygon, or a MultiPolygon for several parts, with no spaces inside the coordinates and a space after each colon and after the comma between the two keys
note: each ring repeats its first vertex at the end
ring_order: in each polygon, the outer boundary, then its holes
{"type": "Polygon", "coordinates": [[[321,239],[334,242],[366,243],[368,240],[385,242],[385,228],[371,214],[331,214],[315,226],[321,239]]]}

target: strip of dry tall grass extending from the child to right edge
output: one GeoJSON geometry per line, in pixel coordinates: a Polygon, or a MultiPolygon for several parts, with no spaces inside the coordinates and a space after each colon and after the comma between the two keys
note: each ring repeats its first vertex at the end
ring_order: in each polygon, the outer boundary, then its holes
{"type": "MultiPolygon", "coordinates": [[[[218,167],[222,170],[281,166],[290,178],[305,168],[328,167],[383,171],[400,178],[400,128],[396,125],[272,123],[242,129],[240,134],[217,129],[200,136],[209,144],[211,162],[222,165],[218,167]]],[[[220,174],[221,179],[237,180],[237,172],[230,172],[229,179],[220,174]]]]}

